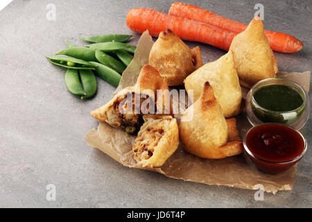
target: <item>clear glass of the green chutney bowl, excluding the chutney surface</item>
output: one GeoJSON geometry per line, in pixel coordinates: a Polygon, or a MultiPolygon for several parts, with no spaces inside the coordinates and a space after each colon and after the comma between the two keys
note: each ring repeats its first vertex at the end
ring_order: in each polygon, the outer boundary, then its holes
{"type": "Polygon", "coordinates": [[[297,83],[284,78],[266,78],[256,83],[246,97],[246,113],[252,126],[265,122],[285,123],[296,130],[300,130],[306,124],[310,116],[309,94],[297,83]],[[267,85],[286,85],[295,89],[302,96],[303,103],[299,108],[287,112],[278,112],[263,108],[254,100],[254,92],[267,85]]]}

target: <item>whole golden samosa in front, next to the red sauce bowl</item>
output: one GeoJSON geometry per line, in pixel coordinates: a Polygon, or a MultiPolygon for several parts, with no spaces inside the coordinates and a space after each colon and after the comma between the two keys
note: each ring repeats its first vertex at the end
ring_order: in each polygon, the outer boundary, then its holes
{"type": "Polygon", "coordinates": [[[243,152],[236,129],[236,119],[223,116],[214,89],[205,82],[200,99],[182,114],[190,115],[189,121],[181,121],[180,141],[183,148],[193,155],[208,159],[223,159],[243,152]]]}

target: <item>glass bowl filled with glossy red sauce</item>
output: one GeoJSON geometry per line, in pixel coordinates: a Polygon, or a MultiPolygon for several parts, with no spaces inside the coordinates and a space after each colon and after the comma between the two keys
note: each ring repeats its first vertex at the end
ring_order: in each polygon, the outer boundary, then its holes
{"type": "Polygon", "coordinates": [[[306,139],[283,123],[262,123],[250,128],[243,146],[245,153],[265,173],[281,173],[300,161],[306,153],[306,139]]]}

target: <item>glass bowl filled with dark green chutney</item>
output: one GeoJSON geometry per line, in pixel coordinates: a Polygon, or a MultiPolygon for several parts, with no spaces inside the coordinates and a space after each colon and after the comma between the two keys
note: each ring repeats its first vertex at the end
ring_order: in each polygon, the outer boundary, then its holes
{"type": "Polygon", "coordinates": [[[250,123],[284,123],[300,130],[309,119],[309,94],[284,78],[266,78],[256,83],[246,97],[250,123]]]}

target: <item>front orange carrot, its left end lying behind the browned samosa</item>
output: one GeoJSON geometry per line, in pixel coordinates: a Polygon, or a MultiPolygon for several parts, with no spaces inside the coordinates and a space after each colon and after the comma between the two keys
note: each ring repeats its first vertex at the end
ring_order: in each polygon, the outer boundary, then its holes
{"type": "Polygon", "coordinates": [[[133,8],[127,15],[127,26],[137,33],[148,29],[150,35],[158,37],[161,31],[171,29],[182,40],[203,42],[220,49],[229,50],[236,33],[202,22],[193,22],[148,8],[133,8]]]}

